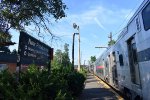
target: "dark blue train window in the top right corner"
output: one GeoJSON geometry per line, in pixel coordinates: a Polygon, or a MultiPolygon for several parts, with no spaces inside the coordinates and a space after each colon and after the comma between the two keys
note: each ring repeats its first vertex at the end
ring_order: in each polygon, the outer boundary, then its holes
{"type": "Polygon", "coordinates": [[[142,17],[145,31],[150,29],[150,3],[143,9],[142,17]]]}

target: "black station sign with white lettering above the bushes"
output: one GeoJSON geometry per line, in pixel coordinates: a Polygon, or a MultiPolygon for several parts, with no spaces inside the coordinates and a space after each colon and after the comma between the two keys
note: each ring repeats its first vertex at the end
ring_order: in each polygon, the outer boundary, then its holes
{"type": "Polygon", "coordinates": [[[50,61],[53,49],[25,32],[20,32],[19,57],[20,64],[36,64],[45,66],[50,61]]]}

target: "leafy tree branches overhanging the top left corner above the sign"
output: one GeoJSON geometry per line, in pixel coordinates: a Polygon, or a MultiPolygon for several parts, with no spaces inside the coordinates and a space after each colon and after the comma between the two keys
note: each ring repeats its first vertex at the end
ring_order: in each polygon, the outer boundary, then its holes
{"type": "Polygon", "coordinates": [[[51,33],[48,28],[50,18],[65,17],[65,9],[62,0],[1,0],[0,21],[3,25],[0,27],[3,26],[6,32],[10,28],[26,31],[25,27],[32,24],[39,33],[41,30],[51,33]]]}

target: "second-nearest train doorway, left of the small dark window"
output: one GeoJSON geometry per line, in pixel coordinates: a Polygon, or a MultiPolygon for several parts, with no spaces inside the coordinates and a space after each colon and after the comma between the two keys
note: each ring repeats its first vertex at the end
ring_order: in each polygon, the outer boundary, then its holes
{"type": "Polygon", "coordinates": [[[113,76],[113,83],[114,86],[118,86],[118,76],[117,76],[117,63],[116,63],[116,56],[115,52],[112,53],[112,76],[113,76]]]}

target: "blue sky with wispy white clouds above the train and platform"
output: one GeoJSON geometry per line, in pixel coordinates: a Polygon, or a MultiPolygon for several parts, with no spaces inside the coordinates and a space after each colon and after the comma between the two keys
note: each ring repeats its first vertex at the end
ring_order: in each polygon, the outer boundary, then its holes
{"type": "MultiPolygon", "coordinates": [[[[48,44],[54,50],[63,50],[65,43],[69,44],[70,60],[72,59],[72,36],[77,33],[73,28],[76,23],[80,28],[80,52],[81,64],[88,64],[91,56],[98,58],[105,49],[95,48],[97,46],[107,46],[110,32],[116,40],[121,29],[126,26],[136,9],[143,0],[63,0],[67,5],[65,13],[67,17],[52,21],[49,25],[51,32],[60,37],[58,40],[49,41],[49,37],[40,39],[36,33],[32,36],[48,44]]],[[[32,26],[30,26],[32,28],[32,26]]],[[[12,41],[15,46],[10,49],[18,49],[19,33],[11,30],[12,41]]],[[[78,64],[78,35],[75,36],[75,64],[78,64]]]]}

